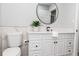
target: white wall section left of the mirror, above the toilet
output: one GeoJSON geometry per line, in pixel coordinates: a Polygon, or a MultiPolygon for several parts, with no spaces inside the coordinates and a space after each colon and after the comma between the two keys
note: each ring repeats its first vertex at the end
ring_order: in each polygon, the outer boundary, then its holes
{"type": "Polygon", "coordinates": [[[27,26],[36,19],[35,3],[3,3],[0,26],[27,26]]]}

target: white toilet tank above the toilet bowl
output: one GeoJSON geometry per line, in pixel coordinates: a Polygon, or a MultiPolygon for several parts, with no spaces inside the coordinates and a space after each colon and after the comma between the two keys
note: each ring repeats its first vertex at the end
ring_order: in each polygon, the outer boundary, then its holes
{"type": "Polygon", "coordinates": [[[22,43],[22,33],[21,32],[7,33],[7,40],[9,47],[18,47],[22,43]]]}

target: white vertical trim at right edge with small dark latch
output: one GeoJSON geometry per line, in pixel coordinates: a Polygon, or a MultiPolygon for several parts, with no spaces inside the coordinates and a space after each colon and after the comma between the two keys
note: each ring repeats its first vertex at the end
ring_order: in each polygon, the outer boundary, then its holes
{"type": "Polygon", "coordinates": [[[79,4],[76,3],[75,5],[75,37],[74,37],[74,51],[73,51],[73,55],[77,56],[78,54],[78,32],[76,32],[76,30],[78,30],[78,6],[79,4]]]}

